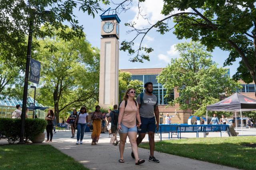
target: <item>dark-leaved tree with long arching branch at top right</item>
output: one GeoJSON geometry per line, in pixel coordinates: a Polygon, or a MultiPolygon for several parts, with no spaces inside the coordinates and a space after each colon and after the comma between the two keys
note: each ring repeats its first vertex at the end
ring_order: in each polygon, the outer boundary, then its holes
{"type": "MultiPolygon", "coordinates": [[[[126,0],[117,6],[127,10],[132,0],[126,0]],[[125,5],[126,3],[127,6],[125,5]]],[[[139,15],[141,13],[139,0],[139,15]]],[[[164,19],[156,23],[150,23],[150,27],[137,29],[136,23],[126,23],[131,28],[129,32],[135,32],[136,36],[131,41],[123,41],[121,48],[135,55],[131,61],[149,60],[153,51],[150,47],[142,47],[142,41],[146,34],[157,29],[161,34],[174,29],[178,39],[192,39],[200,41],[208,51],[219,47],[229,51],[224,66],[232,65],[238,58],[242,59],[233,78],[242,79],[246,83],[254,81],[256,84],[256,8],[254,0],[164,0],[162,14],[164,19]],[[174,27],[169,27],[169,20],[173,19],[174,27]],[[134,49],[134,41],[142,35],[138,49],[134,49]],[[144,53],[140,53],[144,51],[144,53]]],[[[256,93],[255,93],[256,95],[256,93]]]]}

